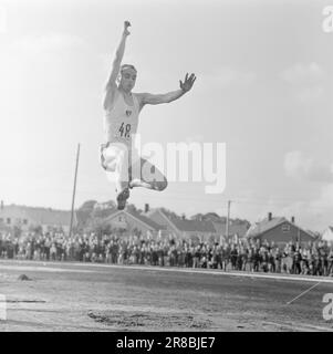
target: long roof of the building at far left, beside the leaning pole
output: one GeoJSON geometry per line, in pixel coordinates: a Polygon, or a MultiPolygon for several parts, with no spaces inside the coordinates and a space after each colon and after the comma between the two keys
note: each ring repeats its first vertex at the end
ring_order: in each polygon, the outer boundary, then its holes
{"type": "MultiPolygon", "coordinates": [[[[51,208],[37,208],[27,206],[10,205],[4,206],[3,211],[18,215],[18,217],[24,217],[31,219],[37,223],[41,225],[63,225],[70,226],[71,223],[71,211],[56,210],[51,208]]],[[[74,212],[75,220],[75,212],[74,212]]]]}

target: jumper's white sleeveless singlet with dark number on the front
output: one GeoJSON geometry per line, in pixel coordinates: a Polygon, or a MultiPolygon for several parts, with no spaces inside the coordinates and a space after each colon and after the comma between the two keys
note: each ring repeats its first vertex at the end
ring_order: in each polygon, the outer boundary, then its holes
{"type": "MultiPolygon", "coordinates": [[[[132,136],[136,134],[138,125],[139,104],[133,93],[131,106],[125,102],[121,92],[115,93],[115,102],[111,110],[105,110],[104,135],[106,143],[123,143],[128,149],[132,147],[132,136]]],[[[133,142],[134,144],[134,142],[133,142]]]]}

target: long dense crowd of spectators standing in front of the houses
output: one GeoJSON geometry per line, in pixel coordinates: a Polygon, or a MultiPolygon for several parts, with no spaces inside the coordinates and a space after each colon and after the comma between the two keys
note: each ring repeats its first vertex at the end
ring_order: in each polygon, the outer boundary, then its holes
{"type": "Polygon", "coordinates": [[[91,233],[69,238],[64,233],[48,232],[15,238],[0,233],[0,258],[333,275],[333,244],[324,241],[274,244],[259,240],[227,240],[192,244],[190,240],[137,236],[96,237],[91,233]]]}

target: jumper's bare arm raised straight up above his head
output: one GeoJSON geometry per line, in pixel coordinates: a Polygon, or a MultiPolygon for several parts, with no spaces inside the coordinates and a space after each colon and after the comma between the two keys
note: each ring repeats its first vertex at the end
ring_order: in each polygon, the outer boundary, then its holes
{"type": "Polygon", "coordinates": [[[131,34],[128,31],[129,25],[131,25],[131,23],[128,21],[124,22],[124,31],[122,34],[122,40],[121,40],[121,43],[118,44],[118,48],[116,50],[115,58],[112,63],[111,75],[108,77],[108,81],[107,81],[106,87],[105,87],[106,95],[105,95],[105,100],[104,100],[104,108],[106,108],[108,106],[108,104],[112,102],[112,100],[114,97],[115,90],[117,88],[116,80],[117,80],[117,76],[118,76],[118,73],[121,70],[122,60],[123,60],[124,52],[125,52],[126,39],[127,39],[127,35],[131,34]]]}

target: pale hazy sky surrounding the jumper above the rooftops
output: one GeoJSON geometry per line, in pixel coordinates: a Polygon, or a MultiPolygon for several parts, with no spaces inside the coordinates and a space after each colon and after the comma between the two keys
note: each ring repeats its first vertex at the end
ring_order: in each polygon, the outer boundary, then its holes
{"type": "Polygon", "coordinates": [[[124,63],[135,92],[191,92],[141,114],[142,142],[227,144],[227,187],[206,183],[137,188],[137,207],[191,216],[215,211],[256,221],[295,216],[333,225],[333,32],[327,1],[1,1],[0,196],[4,204],[70,209],[81,143],[76,206],[115,198],[98,162],[103,87],[123,21],[124,63]],[[6,20],[6,23],[3,21],[6,20]],[[4,25],[6,24],[6,25],[4,25]]]}

